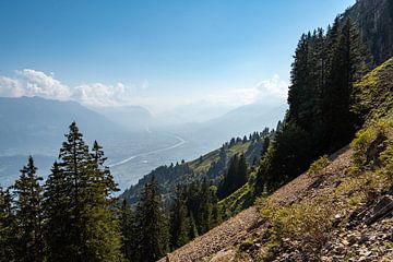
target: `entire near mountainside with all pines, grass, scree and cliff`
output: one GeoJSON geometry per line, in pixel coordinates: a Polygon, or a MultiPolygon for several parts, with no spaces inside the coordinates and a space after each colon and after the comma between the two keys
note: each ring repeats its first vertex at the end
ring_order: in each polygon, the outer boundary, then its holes
{"type": "Polygon", "coordinates": [[[45,182],[29,157],[1,188],[0,261],[392,261],[391,3],[359,0],[300,37],[275,130],[160,166],[119,199],[72,122],[45,182]]]}

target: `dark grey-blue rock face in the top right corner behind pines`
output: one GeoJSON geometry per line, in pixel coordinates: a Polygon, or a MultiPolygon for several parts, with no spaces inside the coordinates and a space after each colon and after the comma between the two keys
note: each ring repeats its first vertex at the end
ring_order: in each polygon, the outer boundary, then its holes
{"type": "Polygon", "coordinates": [[[393,0],[357,0],[344,16],[360,25],[376,66],[393,56],[393,0]]]}

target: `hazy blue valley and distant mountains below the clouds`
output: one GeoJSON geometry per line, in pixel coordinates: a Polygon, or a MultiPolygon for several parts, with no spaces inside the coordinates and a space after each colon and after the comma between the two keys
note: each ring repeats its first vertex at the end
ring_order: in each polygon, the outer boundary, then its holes
{"type": "MultiPolygon", "coordinates": [[[[198,111],[195,107],[191,106],[189,111],[198,111]]],[[[76,121],[86,143],[97,140],[104,145],[108,164],[157,151],[112,168],[118,182],[124,183],[120,184],[123,188],[130,186],[130,178],[135,181],[159,165],[195,158],[233,136],[262,131],[264,127],[274,128],[285,109],[286,106],[252,104],[227,114],[223,109],[223,116],[209,121],[168,126],[140,106],[87,108],[71,100],[0,97],[3,123],[0,126],[0,183],[11,184],[28,155],[36,158],[40,174],[47,175],[72,121],[76,121]],[[162,152],[179,143],[171,134],[180,135],[186,143],[170,154],[162,152]]],[[[183,108],[180,115],[186,111],[183,108]]],[[[217,115],[210,117],[214,116],[217,115]]]]}

